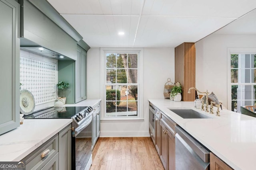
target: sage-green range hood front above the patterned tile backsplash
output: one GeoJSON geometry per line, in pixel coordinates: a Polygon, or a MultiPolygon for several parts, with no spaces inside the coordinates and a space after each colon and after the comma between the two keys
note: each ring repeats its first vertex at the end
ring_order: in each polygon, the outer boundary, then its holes
{"type": "Polygon", "coordinates": [[[19,0],[19,2],[22,6],[20,21],[21,46],[30,46],[31,42],[33,42],[33,45],[40,45],[70,59],[76,60],[77,41],[50,20],[50,18],[43,13],[45,11],[41,12],[37,9],[42,7],[43,2],[46,4],[47,2],[45,0],[19,0]],[[35,4],[32,4],[33,2],[35,4]],[[40,2],[42,4],[40,4],[40,2]],[[38,5],[37,8],[35,5],[38,5]]]}

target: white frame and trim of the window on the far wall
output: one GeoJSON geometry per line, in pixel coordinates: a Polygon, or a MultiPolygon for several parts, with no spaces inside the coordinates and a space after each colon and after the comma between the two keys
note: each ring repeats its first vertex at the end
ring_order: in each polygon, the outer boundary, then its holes
{"type": "MultiPolygon", "coordinates": [[[[104,121],[143,121],[143,49],[142,48],[100,48],[100,98],[102,98],[102,114],[101,120],[104,121]],[[106,86],[110,84],[106,82],[106,53],[137,53],[138,54],[138,108],[137,116],[106,116],[106,86]]],[[[118,84],[118,83],[116,83],[118,84]]],[[[115,85],[116,85],[115,84],[115,85]]],[[[127,83],[128,84],[128,83],[127,83]]]]}

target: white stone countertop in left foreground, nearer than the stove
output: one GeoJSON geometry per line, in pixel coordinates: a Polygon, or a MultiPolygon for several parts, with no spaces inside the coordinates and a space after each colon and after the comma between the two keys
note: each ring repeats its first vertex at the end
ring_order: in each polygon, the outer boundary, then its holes
{"type": "Polygon", "coordinates": [[[20,127],[0,135],[0,162],[22,160],[70,123],[72,119],[24,119],[20,127]]]}

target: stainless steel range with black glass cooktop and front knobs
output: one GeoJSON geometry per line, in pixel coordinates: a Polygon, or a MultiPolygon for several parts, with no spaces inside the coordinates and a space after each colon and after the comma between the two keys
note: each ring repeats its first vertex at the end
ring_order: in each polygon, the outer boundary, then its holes
{"type": "Polygon", "coordinates": [[[92,164],[92,107],[49,107],[24,119],[73,119],[72,170],[89,170],[92,164]],[[81,135],[82,134],[82,135],[81,135]]]}

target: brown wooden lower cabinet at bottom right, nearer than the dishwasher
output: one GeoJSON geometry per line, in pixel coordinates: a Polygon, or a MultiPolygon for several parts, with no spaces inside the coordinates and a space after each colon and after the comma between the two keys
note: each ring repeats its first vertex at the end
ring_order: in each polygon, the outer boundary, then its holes
{"type": "Polygon", "coordinates": [[[210,152],[210,170],[233,170],[215,154],[210,152]]]}

